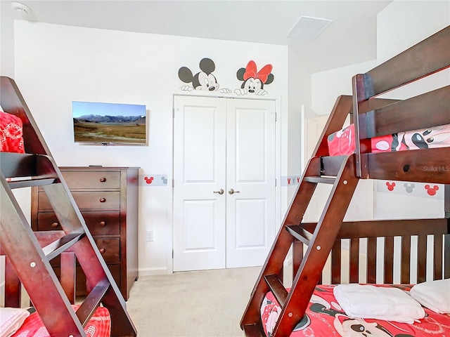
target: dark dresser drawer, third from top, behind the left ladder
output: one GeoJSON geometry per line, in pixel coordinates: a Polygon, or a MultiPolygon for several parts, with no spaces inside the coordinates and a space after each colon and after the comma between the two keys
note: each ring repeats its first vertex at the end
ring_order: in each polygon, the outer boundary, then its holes
{"type": "MultiPolygon", "coordinates": [[[[92,235],[120,235],[120,212],[82,212],[89,232],[92,235]]],[[[55,213],[39,212],[37,214],[37,230],[60,230],[55,213]]]]}

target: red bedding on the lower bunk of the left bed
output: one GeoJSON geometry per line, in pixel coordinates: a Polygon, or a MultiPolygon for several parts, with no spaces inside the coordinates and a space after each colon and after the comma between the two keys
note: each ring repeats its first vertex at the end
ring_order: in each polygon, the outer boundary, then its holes
{"type": "MultiPolygon", "coordinates": [[[[78,305],[74,306],[77,310],[78,305]]],[[[98,307],[84,327],[87,337],[109,337],[111,320],[108,309],[98,307]]],[[[11,337],[50,337],[37,312],[33,312],[11,337]]]]}

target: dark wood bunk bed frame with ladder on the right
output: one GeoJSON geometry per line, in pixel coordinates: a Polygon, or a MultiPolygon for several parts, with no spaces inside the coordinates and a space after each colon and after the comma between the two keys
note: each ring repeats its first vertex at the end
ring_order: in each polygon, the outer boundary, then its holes
{"type": "Polygon", "coordinates": [[[401,131],[450,124],[450,86],[405,100],[379,98],[394,88],[450,67],[450,26],[365,74],[353,77],[353,95],[338,98],[309,160],[269,256],[240,321],[245,336],[264,336],[262,300],[272,291],[282,311],[272,336],[289,336],[300,322],[328,256],[331,282],[341,282],[341,242],[349,239],[349,282],[359,281],[360,239],[366,238],[366,283],[394,282],[394,237],[401,242],[400,282],[411,284],[411,251],[417,251],[417,282],[432,268],[433,279],[450,277],[450,185],[444,185],[444,218],[343,222],[360,179],[450,184],[450,147],[370,153],[367,140],[401,131]],[[350,119],[355,124],[354,154],[330,157],[327,138],[350,119]],[[436,170],[427,170],[434,167],[436,170]],[[332,184],[318,223],[302,223],[316,186],[332,184]],[[417,239],[411,239],[415,237],[417,239]],[[432,237],[432,244],[428,239],[432,237]],[[383,245],[377,242],[383,238],[383,245]],[[416,247],[412,245],[415,244],[416,247]],[[304,249],[307,246],[307,249],[304,249]],[[384,267],[377,267],[383,246],[384,267]],[[293,284],[283,285],[283,263],[293,247],[293,284]],[[432,255],[432,266],[427,262],[432,255]],[[428,258],[427,258],[428,256],[428,258]],[[380,275],[381,273],[381,275],[380,275]]]}

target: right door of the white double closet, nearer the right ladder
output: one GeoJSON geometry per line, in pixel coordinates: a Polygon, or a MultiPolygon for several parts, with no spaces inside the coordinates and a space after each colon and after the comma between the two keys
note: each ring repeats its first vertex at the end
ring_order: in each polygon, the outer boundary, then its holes
{"type": "Polygon", "coordinates": [[[226,110],[226,267],[262,265],[275,237],[275,102],[226,110]]]}

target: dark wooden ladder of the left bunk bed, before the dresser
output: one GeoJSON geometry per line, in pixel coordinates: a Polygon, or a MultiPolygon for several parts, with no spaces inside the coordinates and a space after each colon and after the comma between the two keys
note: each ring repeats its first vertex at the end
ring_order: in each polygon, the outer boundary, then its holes
{"type": "MultiPolygon", "coordinates": [[[[84,326],[99,305],[108,308],[111,336],[136,336],[126,303],[41,136],[13,79],[1,77],[1,107],[23,121],[24,154],[0,152],[0,252],[15,270],[51,336],[86,336],[84,326]],[[13,189],[41,186],[63,231],[33,232],[13,189]],[[75,260],[86,275],[89,294],[75,312],[75,260]],[[58,279],[50,261],[72,261],[72,273],[58,279]],[[63,284],[69,280],[69,289],[63,284]],[[71,289],[70,289],[71,288],[71,289]],[[69,298],[66,293],[69,293],[69,298]]],[[[63,265],[61,265],[61,270],[63,265]]]]}

